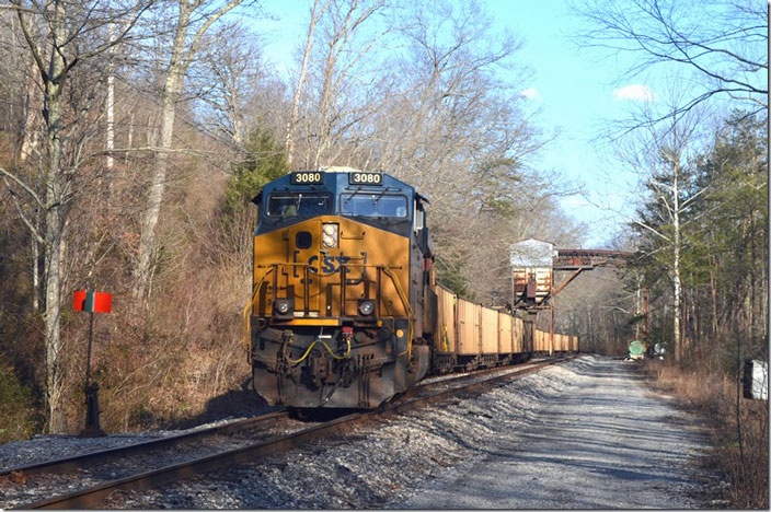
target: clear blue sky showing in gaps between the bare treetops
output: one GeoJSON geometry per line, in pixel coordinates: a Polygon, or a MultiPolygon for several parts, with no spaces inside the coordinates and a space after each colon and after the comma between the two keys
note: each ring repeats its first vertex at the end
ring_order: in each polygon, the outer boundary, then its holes
{"type": "MultiPolygon", "coordinates": [[[[522,93],[533,109],[540,109],[533,118],[536,125],[545,133],[559,130],[557,138],[531,166],[555,171],[566,182],[583,187],[586,195],[564,197],[561,205],[571,217],[586,223],[585,247],[607,247],[624,229],[623,217],[613,210],[632,214],[630,197],[637,183],[634,175],[598,150],[595,139],[605,121],[623,117],[630,103],[643,100],[655,85],[615,83],[629,65],[619,60],[624,56],[577,48],[569,36],[583,21],[569,13],[569,0],[481,3],[492,14],[497,31],[508,30],[523,43],[516,58],[532,71],[522,93]]],[[[308,5],[308,0],[267,1],[265,11],[276,20],[255,23],[265,34],[265,55],[279,71],[291,66],[306,35],[308,5]]]]}

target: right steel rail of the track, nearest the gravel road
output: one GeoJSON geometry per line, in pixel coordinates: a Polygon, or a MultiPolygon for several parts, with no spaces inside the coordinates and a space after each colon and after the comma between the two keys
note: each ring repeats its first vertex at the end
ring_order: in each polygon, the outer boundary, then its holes
{"type": "Polygon", "coordinates": [[[544,366],[563,362],[567,358],[533,362],[506,369],[493,369],[445,380],[438,380],[415,387],[396,400],[373,411],[357,412],[324,423],[278,435],[268,440],[239,446],[200,458],[169,465],[166,467],[127,476],[113,481],[95,485],[44,501],[25,504],[25,509],[82,509],[99,508],[103,500],[116,490],[140,491],[185,477],[222,469],[234,464],[254,462],[257,457],[279,454],[304,445],[311,441],[331,435],[342,435],[356,427],[376,422],[402,412],[418,409],[451,397],[472,396],[484,393],[496,385],[536,372],[544,366]]]}

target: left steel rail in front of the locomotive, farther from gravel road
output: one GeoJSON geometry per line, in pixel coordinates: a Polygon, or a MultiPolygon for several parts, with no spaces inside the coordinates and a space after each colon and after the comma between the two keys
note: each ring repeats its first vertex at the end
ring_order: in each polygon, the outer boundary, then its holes
{"type": "Polygon", "coordinates": [[[71,473],[76,469],[97,464],[107,458],[114,458],[124,455],[136,455],[138,453],[145,453],[161,447],[174,446],[176,444],[194,441],[209,435],[216,435],[219,433],[233,433],[250,430],[251,428],[256,427],[266,421],[276,421],[281,418],[286,418],[288,412],[286,409],[279,409],[273,412],[267,412],[265,415],[255,416],[253,418],[245,418],[242,420],[233,421],[231,423],[219,424],[217,427],[209,427],[206,429],[196,430],[194,432],[185,432],[176,435],[169,435],[166,438],[153,439],[150,441],[141,441],[138,443],[130,443],[107,450],[97,450],[94,452],[81,453],[78,455],[71,455],[54,461],[44,461],[27,466],[4,468],[0,469],[0,478],[27,477],[41,474],[56,475],[62,473],[71,473]]]}

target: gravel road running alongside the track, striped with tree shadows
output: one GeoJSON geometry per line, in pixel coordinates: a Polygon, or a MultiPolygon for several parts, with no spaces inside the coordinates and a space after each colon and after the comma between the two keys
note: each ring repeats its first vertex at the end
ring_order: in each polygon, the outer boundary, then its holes
{"type": "MultiPolygon", "coordinates": [[[[692,509],[710,476],[694,418],[630,363],[596,358],[582,384],[488,455],[413,494],[405,509],[692,509]]],[[[712,482],[714,485],[714,481],[712,482]]]]}

